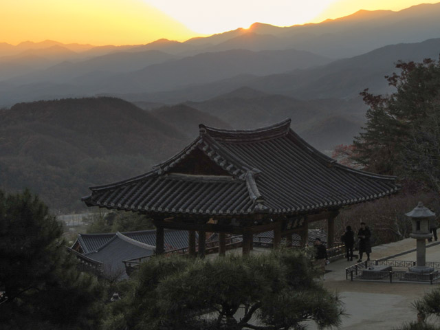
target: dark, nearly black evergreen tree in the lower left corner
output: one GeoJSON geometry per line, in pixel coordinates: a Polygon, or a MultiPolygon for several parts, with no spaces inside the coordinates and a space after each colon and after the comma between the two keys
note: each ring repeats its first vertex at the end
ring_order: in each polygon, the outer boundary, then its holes
{"type": "Polygon", "coordinates": [[[38,197],[0,190],[2,329],[98,329],[102,289],[78,272],[61,234],[38,197]]]}

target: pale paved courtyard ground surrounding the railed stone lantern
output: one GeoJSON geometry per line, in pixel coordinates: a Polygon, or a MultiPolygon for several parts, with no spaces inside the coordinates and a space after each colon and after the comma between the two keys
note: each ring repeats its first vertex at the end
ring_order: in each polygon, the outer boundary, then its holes
{"type": "MultiPolygon", "coordinates": [[[[379,245],[373,248],[371,259],[380,259],[415,248],[415,239],[379,245]]],[[[414,261],[415,252],[392,258],[393,260],[414,261]]],[[[426,261],[440,261],[440,245],[428,245],[426,261]]],[[[324,285],[338,292],[348,314],[340,329],[393,329],[401,322],[416,320],[417,312],[412,302],[438,285],[413,283],[373,283],[347,281],[345,267],[355,261],[342,259],[327,266],[324,285]]],[[[310,327],[310,329],[315,329],[310,327]]]]}

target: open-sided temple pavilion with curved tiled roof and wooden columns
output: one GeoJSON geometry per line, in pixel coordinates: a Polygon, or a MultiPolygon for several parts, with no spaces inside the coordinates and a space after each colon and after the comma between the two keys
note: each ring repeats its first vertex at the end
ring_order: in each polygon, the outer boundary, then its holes
{"type": "Polygon", "coordinates": [[[189,254],[204,256],[206,232],[243,235],[243,254],[252,236],[273,231],[274,246],[309,223],[327,220],[327,245],[334,239],[340,208],[391,195],[396,178],[354,170],[310,146],[290,120],[252,130],[199,125],[184,150],[143,175],[91,187],[87,206],[140,212],[154,221],[156,253],[164,252],[164,229],[187,230],[189,254]]]}

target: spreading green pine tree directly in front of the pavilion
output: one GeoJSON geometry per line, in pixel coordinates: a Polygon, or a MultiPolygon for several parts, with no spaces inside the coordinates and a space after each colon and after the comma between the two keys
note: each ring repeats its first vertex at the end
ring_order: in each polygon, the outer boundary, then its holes
{"type": "Polygon", "coordinates": [[[303,329],[340,324],[338,296],[299,250],[213,260],[154,257],[113,305],[109,329],[303,329]]]}

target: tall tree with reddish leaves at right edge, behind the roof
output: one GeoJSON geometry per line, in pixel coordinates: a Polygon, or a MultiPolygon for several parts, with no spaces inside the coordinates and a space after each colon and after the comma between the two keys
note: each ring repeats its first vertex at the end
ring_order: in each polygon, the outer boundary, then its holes
{"type": "Polygon", "coordinates": [[[387,76],[395,89],[364,90],[366,126],[355,137],[353,159],[366,170],[426,182],[440,191],[440,61],[402,62],[387,76]]]}

